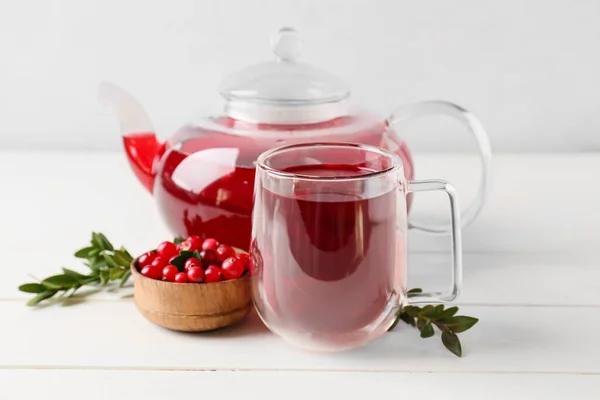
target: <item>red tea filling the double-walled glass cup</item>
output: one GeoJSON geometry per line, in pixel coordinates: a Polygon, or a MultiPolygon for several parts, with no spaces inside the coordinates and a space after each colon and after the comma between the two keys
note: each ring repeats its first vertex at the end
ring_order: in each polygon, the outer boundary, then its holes
{"type": "MultiPolygon", "coordinates": [[[[327,177],[374,172],[327,164],[284,171],[327,177]]],[[[336,183],[327,191],[322,182],[297,182],[290,197],[258,189],[256,212],[264,221],[255,227],[262,239],[258,273],[269,303],[263,308],[286,329],[344,337],[375,323],[393,296],[397,268],[403,268],[396,254],[400,194],[392,189],[362,198],[353,185],[364,184],[336,183]]]]}

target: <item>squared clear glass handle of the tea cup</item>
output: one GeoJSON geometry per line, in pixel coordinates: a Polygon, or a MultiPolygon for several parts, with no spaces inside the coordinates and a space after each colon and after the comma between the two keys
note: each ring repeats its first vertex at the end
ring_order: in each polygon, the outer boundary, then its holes
{"type": "Polygon", "coordinates": [[[443,180],[409,181],[405,194],[411,192],[444,191],[450,200],[451,237],[452,237],[452,286],[446,292],[408,293],[408,303],[442,303],[456,299],[462,286],[462,239],[458,198],[454,187],[443,180]]]}

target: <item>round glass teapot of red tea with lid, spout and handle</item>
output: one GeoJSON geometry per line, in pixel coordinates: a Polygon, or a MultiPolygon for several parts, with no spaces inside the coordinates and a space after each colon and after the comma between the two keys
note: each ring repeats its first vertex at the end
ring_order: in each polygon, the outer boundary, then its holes
{"type": "MultiPolygon", "coordinates": [[[[463,122],[479,145],[479,192],[462,214],[463,226],[477,217],[487,195],[491,149],[473,115],[448,102],[426,101],[380,117],[353,106],[340,79],[298,61],[301,42],[295,30],[279,30],[271,45],[274,61],[244,68],[222,82],[221,115],[187,123],[165,143],[158,141],[150,119],[130,94],[101,83],[100,99],[116,110],[130,166],[154,194],[173,234],[213,237],[248,249],[256,160],[274,147],[307,142],[377,146],[398,154],[411,180],[413,161],[395,128],[433,114],[463,122]]],[[[411,221],[409,226],[434,234],[450,230],[449,224],[411,221]]]]}

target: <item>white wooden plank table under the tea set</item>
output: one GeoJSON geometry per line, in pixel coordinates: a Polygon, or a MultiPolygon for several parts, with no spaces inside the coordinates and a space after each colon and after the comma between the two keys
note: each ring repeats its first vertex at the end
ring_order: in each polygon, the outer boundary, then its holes
{"type": "MultiPolygon", "coordinates": [[[[475,159],[416,165],[472,195],[475,159]]],[[[338,354],[289,347],[254,314],[174,333],[138,314],[132,288],[26,307],[17,286],[78,267],[72,253],[92,230],[132,253],[171,235],[120,154],[0,152],[0,399],[600,399],[600,154],[494,165],[491,198],[463,232],[458,303],[480,322],[460,335],[459,359],[405,326],[338,354]]],[[[415,201],[415,212],[437,208],[415,201]]],[[[442,287],[447,240],[413,234],[411,287],[442,287]]]]}

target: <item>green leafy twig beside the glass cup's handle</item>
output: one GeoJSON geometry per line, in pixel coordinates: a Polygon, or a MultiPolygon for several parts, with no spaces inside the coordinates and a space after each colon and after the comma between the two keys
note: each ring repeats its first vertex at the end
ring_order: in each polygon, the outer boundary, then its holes
{"type": "MultiPolygon", "coordinates": [[[[421,289],[412,289],[409,293],[420,293],[421,289]]],[[[445,308],[443,304],[437,306],[426,305],[424,307],[406,306],[399,312],[396,320],[389,330],[396,327],[399,321],[416,327],[421,332],[422,338],[430,338],[435,335],[435,326],[442,332],[442,343],[454,355],[462,357],[462,346],[458,339],[458,333],[471,329],[479,320],[464,315],[455,315],[458,307],[445,308]]]]}

